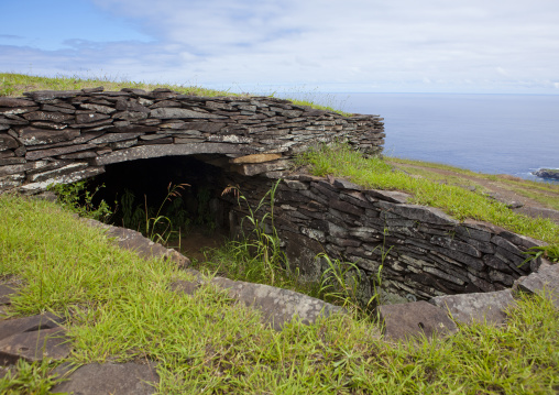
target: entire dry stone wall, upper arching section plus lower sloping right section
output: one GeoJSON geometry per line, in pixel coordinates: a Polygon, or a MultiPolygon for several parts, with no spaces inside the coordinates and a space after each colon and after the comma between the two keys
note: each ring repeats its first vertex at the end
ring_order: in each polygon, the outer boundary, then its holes
{"type": "MultiPolygon", "coordinates": [[[[364,300],[381,264],[386,297],[401,300],[497,292],[537,268],[539,261],[523,265],[536,240],[487,223],[458,222],[408,204],[403,193],[287,172],[289,158],[316,143],[347,141],[375,154],[383,139],[376,116],[342,117],[266,97],[35,91],[0,98],[0,193],[36,193],[119,162],[219,154],[211,164],[228,171],[230,184],[239,185],[253,207],[272,186],[270,178],[284,178],[275,226],[289,261],[309,279],[327,268],[318,253],[357,263],[364,300]]],[[[230,222],[239,224],[245,212],[235,206],[230,222]]]]}

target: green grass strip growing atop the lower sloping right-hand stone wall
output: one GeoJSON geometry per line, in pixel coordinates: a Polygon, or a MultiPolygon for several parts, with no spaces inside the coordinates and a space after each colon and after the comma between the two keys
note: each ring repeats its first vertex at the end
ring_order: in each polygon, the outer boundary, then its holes
{"type": "Polygon", "coordinates": [[[515,213],[504,204],[459,186],[412,177],[394,171],[379,157],[364,158],[346,145],[310,150],[299,156],[298,163],[308,165],[314,175],[332,174],[370,188],[409,193],[410,202],[440,208],[459,220],[487,221],[551,244],[559,243],[559,226],[548,219],[515,213]]]}

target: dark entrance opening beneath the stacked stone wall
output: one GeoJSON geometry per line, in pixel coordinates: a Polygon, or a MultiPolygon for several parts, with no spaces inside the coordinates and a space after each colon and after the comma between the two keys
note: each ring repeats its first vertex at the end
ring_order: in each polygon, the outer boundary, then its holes
{"type": "Polygon", "coordinates": [[[114,212],[110,222],[138,230],[152,240],[204,259],[229,235],[231,204],[221,198],[226,172],[220,155],[166,156],[106,166],[88,189],[102,186],[94,204],[105,200],[114,212]]]}

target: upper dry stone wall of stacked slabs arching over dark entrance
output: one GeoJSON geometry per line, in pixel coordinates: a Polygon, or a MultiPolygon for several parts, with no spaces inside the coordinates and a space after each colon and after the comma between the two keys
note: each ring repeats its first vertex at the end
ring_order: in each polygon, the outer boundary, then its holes
{"type": "Polygon", "coordinates": [[[254,175],[286,168],[316,143],[349,142],[365,154],[384,143],[376,116],[342,117],[267,97],[102,88],[25,96],[0,98],[0,193],[36,193],[141,158],[223,154],[254,175]]]}

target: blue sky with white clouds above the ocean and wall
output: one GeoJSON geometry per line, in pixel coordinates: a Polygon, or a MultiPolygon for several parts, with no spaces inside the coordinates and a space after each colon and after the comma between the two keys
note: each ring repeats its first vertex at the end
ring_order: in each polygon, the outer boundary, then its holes
{"type": "Polygon", "coordinates": [[[559,94],[558,0],[0,0],[0,72],[248,92],[559,94]]]}

